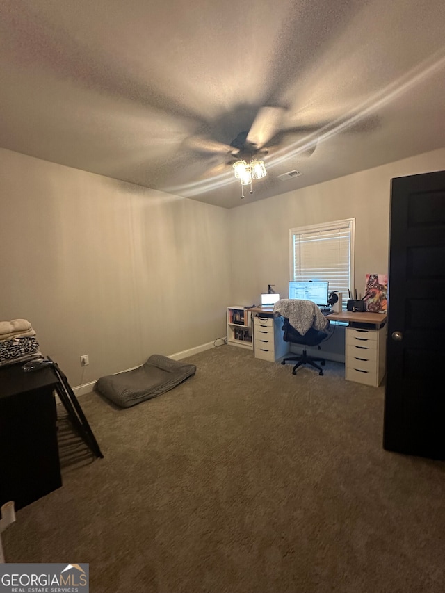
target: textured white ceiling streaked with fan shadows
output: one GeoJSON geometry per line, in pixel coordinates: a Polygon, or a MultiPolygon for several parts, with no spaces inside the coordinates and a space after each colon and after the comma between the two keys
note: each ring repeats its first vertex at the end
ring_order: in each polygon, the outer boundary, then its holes
{"type": "Polygon", "coordinates": [[[2,0],[0,146],[232,208],[444,147],[444,31],[444,0],[2,0]],[[191,140],[261,106],[294,133],[241,200],[191,140]]]}

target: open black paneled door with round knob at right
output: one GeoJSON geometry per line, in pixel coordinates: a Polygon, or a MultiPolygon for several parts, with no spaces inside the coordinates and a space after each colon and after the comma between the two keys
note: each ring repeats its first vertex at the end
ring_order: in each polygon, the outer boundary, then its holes
{"type": "Polygon", "coordinates": [[[445,459],[445,171],[391,184],[383,446],[445,459]]]}

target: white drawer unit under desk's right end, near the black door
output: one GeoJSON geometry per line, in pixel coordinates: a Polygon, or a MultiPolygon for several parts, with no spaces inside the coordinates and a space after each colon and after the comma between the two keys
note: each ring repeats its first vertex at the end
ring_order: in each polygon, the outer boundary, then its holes
{"type": "Polygon", "coordinates": [[[385,376],[386,327],[346,327],[345,378],[378,387],[385,376]]]}

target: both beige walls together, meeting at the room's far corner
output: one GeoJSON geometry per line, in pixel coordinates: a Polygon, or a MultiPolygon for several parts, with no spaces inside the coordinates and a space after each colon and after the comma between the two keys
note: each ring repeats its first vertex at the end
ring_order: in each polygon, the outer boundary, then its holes
{"type": "Polygon", "coordinates": [[[211,345],[228,305],[287,295],[291,227],[355,217],[357,290],[386,273],[391,177],[444,163],[441,149],[226,210],[0,149],[0,320],[29,319],[73,387],[211,345]]]}

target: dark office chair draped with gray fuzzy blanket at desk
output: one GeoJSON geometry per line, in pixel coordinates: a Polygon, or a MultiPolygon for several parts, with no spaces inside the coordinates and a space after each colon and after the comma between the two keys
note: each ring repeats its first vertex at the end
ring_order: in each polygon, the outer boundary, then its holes
{"type": "MultiPolygon", "coordinates": [[[[275,304],[274,311],[284,318],[284,341],[304,346],[318,346],[320,350],[320,343],[329,335],[330,322],[316,304],[302,299],[282,299],[275,304]]],[[[286,364],[289,360],[296,362],[292,369],[293,375],[296,375],[297,368],[302,364],[310,364],[319,371],[318,375],[323,375],[321,366],[325,365],[325,359],[308,356],[306,348],[300,355],[284,358],[281,364],[286,364]]]]}

